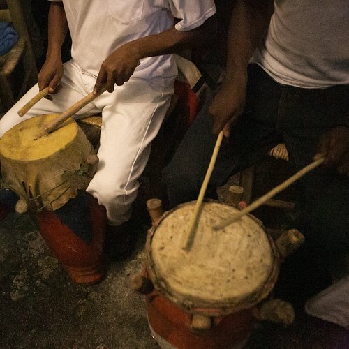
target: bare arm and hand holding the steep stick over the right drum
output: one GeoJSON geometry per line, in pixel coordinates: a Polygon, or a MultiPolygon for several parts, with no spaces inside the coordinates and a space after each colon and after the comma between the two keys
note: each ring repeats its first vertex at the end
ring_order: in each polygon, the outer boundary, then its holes
{"type": "Polygon", "coordinates": [[[209,107],[215,135],[223,129],[225,137],[229,137],[230,125],[244,111],[248,62],[269,26],[273,10],[274,1],[245,0],[237,1],[232,11],[225,76],[209,107]]]}

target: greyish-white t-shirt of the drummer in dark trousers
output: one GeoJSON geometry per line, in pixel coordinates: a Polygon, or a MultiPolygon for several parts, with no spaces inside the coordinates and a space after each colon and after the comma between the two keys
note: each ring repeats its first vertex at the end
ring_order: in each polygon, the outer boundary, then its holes
{"type": "Polygon", "coordinates": [[[251,62],[281,84],[324,89],[349,85],[349,1],[275,0],[251,62]]]}

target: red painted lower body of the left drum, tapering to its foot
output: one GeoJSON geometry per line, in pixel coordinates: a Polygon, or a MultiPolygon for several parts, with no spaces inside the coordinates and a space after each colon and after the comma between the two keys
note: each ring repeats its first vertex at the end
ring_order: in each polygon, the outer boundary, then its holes
{"type": "Polygon", "coordinates": [[[70,279],[81,285],[98,283],[104,274],[105,207],[90,196],[89,211],[93,232],[91,242],[78,237],[54,211],[44,210],[36,214],[40,234],[50,251],[66,268],[70,279]]]}

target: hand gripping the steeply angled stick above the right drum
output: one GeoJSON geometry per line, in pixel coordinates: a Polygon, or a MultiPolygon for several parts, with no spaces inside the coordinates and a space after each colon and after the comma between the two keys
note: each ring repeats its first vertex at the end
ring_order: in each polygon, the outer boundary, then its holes
{"type": "Polygon", "coordinates": [[[214,118],[212,132],[218,135],[223,129],[226,138],[230,136],[230,126],[244,112],[246,103],[247,72],[239,77],[223,82],[221,90],[209,106],[209,113],[214,118]]]}

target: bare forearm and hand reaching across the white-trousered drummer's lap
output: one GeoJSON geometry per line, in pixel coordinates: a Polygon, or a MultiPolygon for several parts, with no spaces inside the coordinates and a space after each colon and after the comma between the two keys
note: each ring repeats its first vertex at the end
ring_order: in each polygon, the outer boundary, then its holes
{"type": "Polygon", "coordinates": [[[104,85],[108,92],[112,92],[114,84],[121,86],[127,82],[142,58],[171,54],[201,45],[214,36],[215,24],[216,19],[213,16],[191,31],[179,31],[173,27],[122,45],[103,61],[94,94],[99,94],[104,85]]]}

